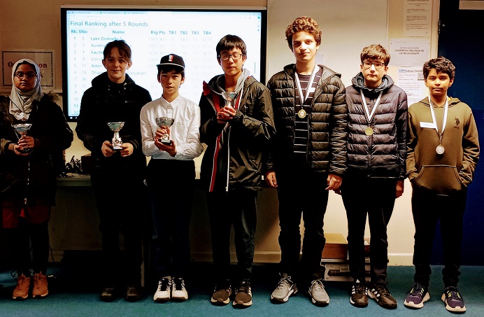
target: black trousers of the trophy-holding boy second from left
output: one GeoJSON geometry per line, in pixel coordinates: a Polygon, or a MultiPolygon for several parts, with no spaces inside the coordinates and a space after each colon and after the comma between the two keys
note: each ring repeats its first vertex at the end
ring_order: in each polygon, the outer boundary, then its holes
{"type": "Polygon", "coordinates": [[[143,229],[146,219],[146,193],[143,181],[120,173],[91,176],[99,212],[101,232],[101,272],[105,286],[141,284],[143,229]],[[120,233],[124,255],[120,252],[120,233]]]}

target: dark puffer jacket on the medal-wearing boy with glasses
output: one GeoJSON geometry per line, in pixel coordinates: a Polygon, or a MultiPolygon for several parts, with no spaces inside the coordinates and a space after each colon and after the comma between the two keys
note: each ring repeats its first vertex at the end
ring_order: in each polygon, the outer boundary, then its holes
{"type": "MultiPolygon", "coordinates": [[[[348,171],[347,176],[398,178],[406,176],[406,93],[394,85],[390,76],[383,76],[379,87],[369,90],[359,73],[346,87],[348,104],[348,171]],[[373,135],[364,134],[368,127],[361,90],[371,107],[383,91],[380,103],[371,119],[373,135]]],[[[371,113],[371,111],[370,111],[371,113]]]]}

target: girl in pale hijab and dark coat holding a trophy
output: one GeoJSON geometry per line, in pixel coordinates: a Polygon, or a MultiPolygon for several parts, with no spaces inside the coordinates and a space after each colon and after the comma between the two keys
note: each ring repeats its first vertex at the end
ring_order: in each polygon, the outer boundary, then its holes
{"type": "Polygon", "coordinates": [[[55,94],[42,93],[41,71],[26,58],[13,65],[10,96],[0,96],[0,209],[17,269],[13,300],[49,293],[48,221],[57,175],[64,167],[62,151],[73,141],[56,100],[55,94]],[[27,134],[16,132],[17,125],[27,134]]]}

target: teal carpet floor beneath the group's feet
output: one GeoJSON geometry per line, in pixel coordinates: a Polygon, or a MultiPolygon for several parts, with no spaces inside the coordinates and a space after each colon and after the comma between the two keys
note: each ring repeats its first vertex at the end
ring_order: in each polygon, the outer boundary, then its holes
{"type": "MultiPolygon", "coordinates": [[[[85,264],[84,264],[85,265],[85,264]]],[[[389,267],[388,288],[397,298],[398,307],[386,310],[370,300],[368,307],[358,309],[349,302],[350,283],[326,282],[331,298],[327,307],[315,307],[304,290],[285,304],[272,304],[270,294],[278,281],[276,265],[255,265],[252,278],[252,307],[234,309],[232,304],[215,307],[210,302],[211,264],[193,263],[189,300],[157,304],[152,301],[154,289],[146,290],[140,302],[99,300],[99,275],[96,269],[79,269],[72,265],[52,265],[49,268],[50,295],[43,300],[11,300],[15,280],[10,272],[0,272],[0,316],[451,316],[440,300],[443,291],[440,266],[433,267],[429,288],[430,300],[418,310],[404,307],[406,292],[412,286],[413,267],[389,267]]],[[[462,267],[460,291],[467,312],[464,316],[484,316],[484,267],[462,267]]]]}

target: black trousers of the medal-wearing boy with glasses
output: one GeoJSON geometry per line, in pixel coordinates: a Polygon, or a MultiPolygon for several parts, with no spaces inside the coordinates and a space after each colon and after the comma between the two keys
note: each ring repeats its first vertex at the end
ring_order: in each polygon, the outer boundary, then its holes
{"type": "Polygon", "coordinates": [[[396,179],[346,177],[341,197],[348,219],[348,260],[351,277],[364,282],[364,230],[366,215],[370,228],[370,276],[372,283],[387,281],[387,225],[392,216],[396,179]]]}

